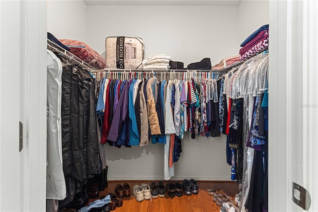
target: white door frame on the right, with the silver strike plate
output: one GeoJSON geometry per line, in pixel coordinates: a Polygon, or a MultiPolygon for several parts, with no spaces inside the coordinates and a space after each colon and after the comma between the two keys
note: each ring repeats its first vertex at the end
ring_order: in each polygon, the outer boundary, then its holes
{"type": "Polygon", "coordinates": [[[317,10],[270,1],[269,211],[318,211],[317,10]]]}

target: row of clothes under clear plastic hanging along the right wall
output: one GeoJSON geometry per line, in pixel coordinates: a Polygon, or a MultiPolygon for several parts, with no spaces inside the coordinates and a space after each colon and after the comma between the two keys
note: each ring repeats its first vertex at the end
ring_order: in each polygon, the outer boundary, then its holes
{"type": "Polygon", "coordinates": [[[268,209],[268,58],[259,54],[224,77],[227,162],[239,183],[240,207],[251,212],[268,209]]]}

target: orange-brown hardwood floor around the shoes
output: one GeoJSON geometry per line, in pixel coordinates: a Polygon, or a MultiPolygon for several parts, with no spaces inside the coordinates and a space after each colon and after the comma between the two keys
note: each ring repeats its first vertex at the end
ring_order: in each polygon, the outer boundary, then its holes
{"type": "MultiPolygon", "coordinates": [[[[152,181],[108,181],[108,188],[102,192],[99,192],[99,196],[106,196],[107,193],[115,193],[115,186],[120,183],[127,182],[132,190],[135,184],[141,185],[142,183],[151,184],[152,181]]],[[[158,183],[158,181],[156,181],[158,183]]],[[[168,182],[177,181],[164,181],[164,185],[168,182]]],[[[181,181],[179,181],[181,182],[181,181]]],[[[182,183],[182,182],[181,182],[182,183]]],[[[212,200],[212,196],[208,194],[206,189],[217,186],[225,191],[228,196],[234,200],[235,195],[239,192],[236,182],[232,181],[198,181],[199,194],[182,197],[170,198],[165,192],[164,198],[157,198],[150,200],[144,200],[137,202],[134,197],[123,198],[123,206],[116,208],[114,212],[219,212],[220,208],[212,200]]],[[[94,200],[89,200],[92,202],[94,200]]]]}

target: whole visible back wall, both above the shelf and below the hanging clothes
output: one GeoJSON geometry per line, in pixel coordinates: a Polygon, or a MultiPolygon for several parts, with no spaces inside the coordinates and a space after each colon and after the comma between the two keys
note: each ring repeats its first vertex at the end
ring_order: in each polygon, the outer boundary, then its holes
{"type": "MultiPolygon", "coordinates": [[[[87,43],[105,51],[108,36],[141,37],[145,57],[165,53],[172,60],[191,62],[210,57],[218,63],[238,54],[238,6],[87,5],[87,43]]],[[[111,180],[163,180],[162,144],[146,147],[107,145],[111,180]]],[[[182,153],[172,179],[230,180],[226,136],[191,139],[185,132],[182,153]]]]}

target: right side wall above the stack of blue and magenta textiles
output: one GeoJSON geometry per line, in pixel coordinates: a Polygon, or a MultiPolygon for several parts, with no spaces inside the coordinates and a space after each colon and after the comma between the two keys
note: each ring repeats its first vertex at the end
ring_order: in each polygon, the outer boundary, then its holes
{"type": "Polygon", "coordinates": [[[239,3],[239,45],[265,24],[269,24],[269,0],[242,0],[239,3]]]}

